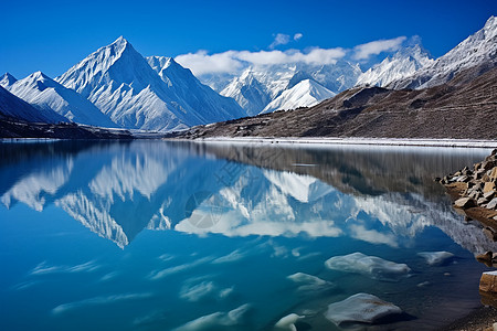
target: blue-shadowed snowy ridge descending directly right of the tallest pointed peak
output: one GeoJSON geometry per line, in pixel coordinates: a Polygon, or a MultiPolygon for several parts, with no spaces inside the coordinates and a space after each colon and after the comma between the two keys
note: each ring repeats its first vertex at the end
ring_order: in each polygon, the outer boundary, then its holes
{"type": "Polygon", "coordinates": [[[182,67],[172,57],[149,56],[147,62],[180,100],[193,109],[201,109],[207,122],[246,116],[232,98],[223,97],[200,83],[190,70],[182,67]]]}

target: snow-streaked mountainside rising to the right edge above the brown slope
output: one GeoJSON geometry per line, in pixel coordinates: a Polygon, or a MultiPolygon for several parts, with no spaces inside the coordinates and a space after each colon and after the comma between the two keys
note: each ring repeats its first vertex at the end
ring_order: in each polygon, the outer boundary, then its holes
{"type": "Polygon", "coordinates": [[[452,79],[457,73],[479,65],[491,68],[497,63],[497,18],[490,17],[485,26],[472,34],[445,55],[393,82],[392,88],[426,88],[452,79]]]}

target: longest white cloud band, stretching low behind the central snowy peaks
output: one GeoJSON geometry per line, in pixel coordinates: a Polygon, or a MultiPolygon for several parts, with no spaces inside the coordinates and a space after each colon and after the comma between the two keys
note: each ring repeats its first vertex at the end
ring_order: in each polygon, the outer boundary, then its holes
{"type": "Polygon", "coordinates": [[[288,63],[335,64],[346,55],[346,50],[311,49],[308,52],[298,50],[288,51],[226,51],[224,53],[208,54],[205,51],[177,56],[175,60],[184,67],[190,68],[194,75],[210,73],[236,74],[246,66],[264,66],[288,63]]]}

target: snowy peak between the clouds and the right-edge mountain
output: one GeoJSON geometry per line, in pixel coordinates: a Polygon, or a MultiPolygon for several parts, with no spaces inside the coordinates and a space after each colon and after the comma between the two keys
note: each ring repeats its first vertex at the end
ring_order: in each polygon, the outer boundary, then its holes
{"type": "Polygon", "coordinates": [[[404,47],[393,56],[388,56],[381,63],[373,65],[366,73],[361,74],[356,85],[384,87],[393,81],[414,74],[417,70],[433,62],[427,52],[420,45],[404,47]]]}

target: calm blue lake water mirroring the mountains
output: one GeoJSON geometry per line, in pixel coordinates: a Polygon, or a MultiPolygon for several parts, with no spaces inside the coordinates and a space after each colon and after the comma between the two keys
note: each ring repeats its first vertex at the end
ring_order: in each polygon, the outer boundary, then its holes
{"type": "Polygon", "coordinates": [[[358,292],[404,313],[356,329],[437,329],[480,305],[497,247],[433,178],[488,152],[1,143],[0,330],[340,330],[324,313],[358,292]],[[352,253],[409,273],[325,264],[352,253]]]}

